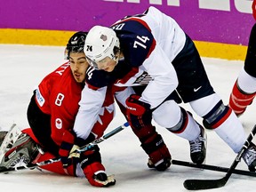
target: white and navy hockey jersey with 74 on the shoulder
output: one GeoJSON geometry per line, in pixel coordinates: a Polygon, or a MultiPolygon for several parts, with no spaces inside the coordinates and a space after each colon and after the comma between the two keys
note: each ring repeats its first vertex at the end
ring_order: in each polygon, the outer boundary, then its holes
{"type": "Polygon", "coordinates": [[[175,20],[155,7],[149,7],[143,14],[118,20],[111,28],[119,38],[124,60],[119,60],[110,73],[94,70],[87,76],[88,86],[83,91],[86,97],[80,104],[90,107],[79,110],[76,120],[81,124],[86,113],[96,112],[97,106],[101,106],[100,102],[104,99],[99,99],[99,96],[104,95],[104,87],[108,84],[120,87],[146,84],[140,100],[150,104],[151,108],[156,108],[178,86],[172,60],[184,47],[186,35],[175,20]]]}

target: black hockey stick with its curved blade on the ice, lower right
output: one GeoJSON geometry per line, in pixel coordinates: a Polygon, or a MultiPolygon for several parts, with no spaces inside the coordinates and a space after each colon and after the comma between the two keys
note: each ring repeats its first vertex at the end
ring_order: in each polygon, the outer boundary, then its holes
{"type": "Polygon", "coordinates": [[[236,165],[240,162],[246,149],[250,146],[253,136],[256,133],[256,125],[254,125],[252,132],[250,132],[247,140],[244,142],[243,148],[237,154],[235,160],[228,169],[226,175],[219,180],[185,180],[183,185],[188,190],[199,190],[199,189],[210,189],[210,188],[221,188],[226,185],[231,174],[235,171],[236,165]]]}

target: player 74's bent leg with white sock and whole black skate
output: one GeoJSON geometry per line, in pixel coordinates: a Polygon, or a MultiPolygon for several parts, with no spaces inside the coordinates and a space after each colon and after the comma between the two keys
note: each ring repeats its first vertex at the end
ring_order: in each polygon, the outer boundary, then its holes
{"type": "Polygon", "coordinates": [[[206,156],[206,132],[195,119],[174,100],[165,101],[153,112],[157,124],[188,140],[190,157],[195,164],[203,164],[206,156]]]}

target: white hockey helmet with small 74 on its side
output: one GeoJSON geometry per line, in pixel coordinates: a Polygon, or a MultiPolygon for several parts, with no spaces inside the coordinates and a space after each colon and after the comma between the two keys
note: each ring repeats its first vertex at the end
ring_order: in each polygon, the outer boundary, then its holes
{"type": "Polygon", "coordinates": [[[109,57],[117,60],[115,49],[120,49],[119,39],[112,28],[94,26],[88,32],[84,44],[84,53],[89,64],[98,68],[100,60],[109,57]]]}

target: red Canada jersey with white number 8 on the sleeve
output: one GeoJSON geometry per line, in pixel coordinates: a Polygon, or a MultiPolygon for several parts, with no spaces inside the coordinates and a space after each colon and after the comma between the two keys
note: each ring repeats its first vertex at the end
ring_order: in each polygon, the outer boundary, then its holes
{"type": "MultiPolygon", "coordinates": [[[[73,129],[83,88],[84,84],[76,82],[69,62],[67,62],[45,76],[36,89],[36,104],[45,114],[51,116],[51,136],[57,145],[61,143],[63,132],[73,129]]],[[[104,113],[98,118],[100,121],[95,122],[93,128],[90,129],[90,132],[92,131],[98,137],[103,134],[113,119],[114,107],[113,110],[104,110],[109,106],[114,106],[111,89],[108,89],[106,93],[102,106],[104,113]]],[[[86,127],[85,124],[84,127],[86,127]]]]}

